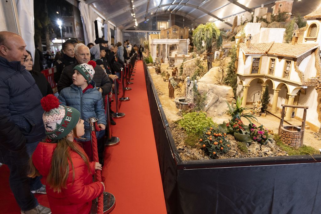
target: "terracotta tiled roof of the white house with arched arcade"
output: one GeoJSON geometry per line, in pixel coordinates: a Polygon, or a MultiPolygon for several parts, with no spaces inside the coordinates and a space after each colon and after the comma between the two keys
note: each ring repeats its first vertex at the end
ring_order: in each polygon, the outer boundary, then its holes
{"type": "Polygon", "coordinates": [[[253,54],[269,54],[275,56],[287,56],[297,58],[302,54],[305,54],[309,50],[317,48],[317,44],[295,44],[291,43],[256,43],[251,44],[248,48],[246,44],[240,44],[240,48],[243,50],[245,55],[253,55],[253,54]]]}

